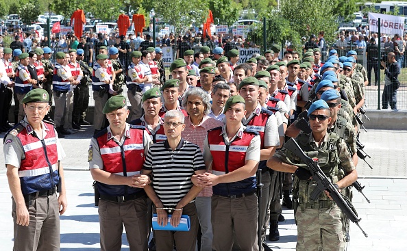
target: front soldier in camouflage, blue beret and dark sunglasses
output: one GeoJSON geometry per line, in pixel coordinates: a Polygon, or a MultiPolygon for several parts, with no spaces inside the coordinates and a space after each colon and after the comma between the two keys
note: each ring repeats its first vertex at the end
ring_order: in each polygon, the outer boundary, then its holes
{"type": "MultiPolygon", "coordinates": [[[[345,189],[358,179],[358,173],[345,141],[328,132],[328,124],[332,122],[330,107],[323,100],[315,101],[308,110],[308,117],[312,133],[301,133],[295,140],[309,157],[318,159],[319,166],[336,189],[345,189]],[[338,172],[338,163],[341,163],[343,172],[338,172]]],[[[332,202],[328,191],[321,193],[317,201],[310,199],[307,191],[313,191],[314,182],[301,159],[283,148],[267,161],[267,166],[295,174],[293,200],[298,205],[294,209],[298,226],[297,250],[321,247],[323,250],[344,250],[341,209],[332,202]],[[315,203],[319,204],[318,208],[314,207],[315,203]]]]}

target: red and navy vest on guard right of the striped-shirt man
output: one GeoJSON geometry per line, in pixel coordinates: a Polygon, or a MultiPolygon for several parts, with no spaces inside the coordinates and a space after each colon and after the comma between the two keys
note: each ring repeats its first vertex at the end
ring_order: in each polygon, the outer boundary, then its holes
{"type": "MultiPolygon", "coordinates": [[[[208,143],[212,155],[212,174],[221,175],[233,172],[245,166],[245,157],[251,140],[258,135],[254,131],[243,131],[242,137],[236,137],[229,145],[225,144],[222,127],[208,131],[208,143]]],[[[213,187],[213,194],[233,196],[247,194],[256,189],[256,174],[242,181],[221,183],[213,187]]]]}

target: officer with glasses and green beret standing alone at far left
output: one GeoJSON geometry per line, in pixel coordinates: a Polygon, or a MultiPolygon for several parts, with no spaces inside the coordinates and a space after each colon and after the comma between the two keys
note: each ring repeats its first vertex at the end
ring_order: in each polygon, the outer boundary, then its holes
{"type": "Polygon", "coordinates": [[[28,92],[26,116],[4,137],[4,156],[12,193],[14,250],[60,250],[60,215],[66,210],[65,157],[49,112],[49,94],[28,92]],[[59,193],[59,196],[57,196],[59,193]]]}

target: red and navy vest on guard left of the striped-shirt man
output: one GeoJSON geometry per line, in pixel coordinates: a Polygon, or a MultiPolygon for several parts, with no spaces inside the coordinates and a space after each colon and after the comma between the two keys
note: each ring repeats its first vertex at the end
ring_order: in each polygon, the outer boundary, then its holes
{"type": "MultiPolygon", "coordinates": [[[[108,140],[110,137],[108,129],[103,129],[95,136],[103,160],[104,171],[119,176],[132,176],[141,173],[145,160],[144,127],[131,125],[127,132],[130,133],[130,137],[125,137],[122,146],[119,146],[114,140],[108,140]]],[[[127,185],[107,185],[100,182],[97,185],[99,192],[108,196],[127,196],[143,190],[127,185]]]]}

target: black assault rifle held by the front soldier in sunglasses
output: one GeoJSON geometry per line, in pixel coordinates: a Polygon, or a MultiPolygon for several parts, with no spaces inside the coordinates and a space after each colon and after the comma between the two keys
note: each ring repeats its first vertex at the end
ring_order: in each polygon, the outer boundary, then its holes
{"type": "Polygon", "coordinates": [[[291,150],[292,153],[297,155],[301,161],[306,163],[306,165],[309,168],[310,173],[312,174],[312,179],[314,180],[315,183],[317,183],[317,187],[312,191],[310,199],[311,200],[317,200],[319,198],[319,195],[327,190],[330,193],[330,196],[336,202],[338,207],[345,213],[346,217],[351,221],[356,224],[362,230],[363,235],[367,237],[367,233],[359,226],[359,222],[361,219],[358,218],[358,215],[356,213],[356,210],[354,209],[354,206],[351,204],[349,200],[345,200],[343,196],[339,193],[338,189],[332,184],[330,179],[323,173],[321,168],[319,167],[317,161],[314,161],[310,157],[308,157],[304,151],[299,147],[297,142],[291,138],[284,144],[284,147],[288,150],[291,150]]]}

